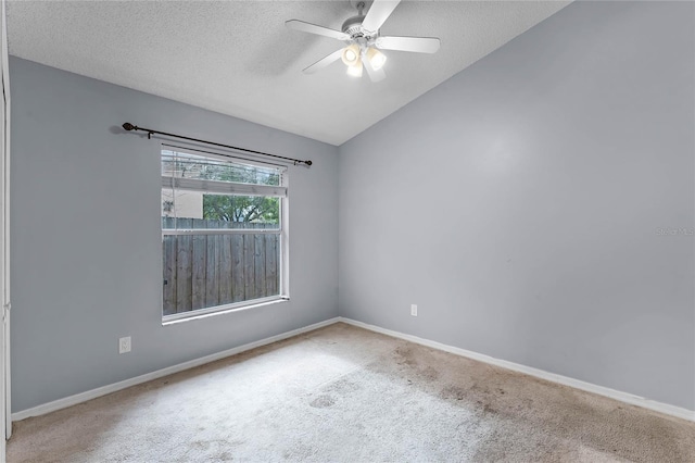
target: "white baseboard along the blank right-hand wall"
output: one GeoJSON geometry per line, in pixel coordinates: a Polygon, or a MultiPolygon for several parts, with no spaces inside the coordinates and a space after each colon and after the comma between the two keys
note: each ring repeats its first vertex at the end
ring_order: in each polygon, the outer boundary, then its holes
{"type": "Polygon", "coordinates": [[[453,346],[443,345],[441,342],[431,341],[429,339],[418,338],[417,336],[406,335],[391,329],[381,328],[379,326],[369,325],[367,323],[357,322],[356,320],[338,317],[340,322],[348,323],[350,325],[358,326],[361,328],[369,329],[370,331],[381,333],[394,338],[405,339],[410,342],[431,347],[433,349],[451,352],[456,355],[466,356],[468,359],[477,360],[479,362],[489,363],[491,365],[502,366],[503,368],[511,370],[527,375],[535,376],[536,378],[546,379],[548,381],[558,383],[565,386],[570,386],[577,389],[581,389],[587,392],[597,393],[599,396],[609,397],[615,400],[619,400],[631,405],[641,406],[643,409],[660,412],[666,415],[675,416],[679,418],[695,422],[695,411],[682,409],[680,406],[670,405],[668,403],[657,402],[654,400],[645,399],[644,397],[634,396],[628,392],[621,392],[619,390],[610,389],[603,386],[597,386],[591,383],[582,381],[567,376],[557,375],[555,373],[545,372],[543,370],[533,368],[531,366],[521,365],[514,362],[507,362],[506,360],[495,359],[493,356],[484,355],[482,353],[472,352],[466,349],[460,349],[453,346]]]}

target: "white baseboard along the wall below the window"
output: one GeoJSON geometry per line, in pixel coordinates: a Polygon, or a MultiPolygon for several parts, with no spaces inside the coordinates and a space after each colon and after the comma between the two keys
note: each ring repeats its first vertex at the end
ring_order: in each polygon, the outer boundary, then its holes
{"type": "Polygon", "coordinates": [[[216,360],[225,359],[237,353],[241,353],[251,349],[255,349],[261,346],[266,346],[273,342],[281,341],[282,339],[291,338],[292,336],[301,335],[303,333],[313,331],[314,329],[321,328],[324,326],[332,325],[340,321],[339,317],[329,318],[324,322],[315,323],[303,328],[293,329],[291,331],[282,333],[269,338],[261,339],[258,341],[249,342],[248,345],[239,346],[232,349],[228,349],[222,352],[213,353],[210,355],[201,356],[200,359],[191,360],[188,362],[179,363],[178,365],[168,366],[166,368],[157,370],[156,372],[147,373],[144,375],[136,376],[135,378],[125,379],[123,381],[114,383],[112,385],[102,386],[97,389],[91,389],[85,392],[76,393],[63,399],[54,400],[52,402],[43,403],[41,405],[33,406],[30,409],[22,410],[20,412],[12,413],[12,421],[16,422],[25,420],[31,416],[43,415],[46,413],[54,412],[56,410],[65,409],[67,406],[76,405],[81,402],[86,402],[91,399],[96,399],[101,396],[105,396],[111,392],[115,392],[130,386],[136,386],[142,383],[151,381],[163,376],[172,375],[174,373],[182,372],[185,370],[193,368],[195,366],[204,365],[205,363],[214,362],[216,360]]]}

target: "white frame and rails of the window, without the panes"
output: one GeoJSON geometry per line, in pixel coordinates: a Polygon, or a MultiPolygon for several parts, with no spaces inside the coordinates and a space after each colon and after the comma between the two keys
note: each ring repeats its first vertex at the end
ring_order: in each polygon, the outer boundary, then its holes
{"type": "MultiPolygon", "coordinates": [[[[289,178],[288,168],[283,165],[264,163],[256,160],[248,160],[245,158],[235,158],[228,154],[217,154],[214,152],[202,151],[199,149],[187,150],[181,147],[162,146],[160,149],[160,158],[162,158],[163,151],[174,151],[184,154],[192,154],[197,157],[203,157],[208,159],[215,159],[219,161],[232,161],[238,164],[247,164],[258,167],[271,167],[277,168],[280,173],[280,185],[249,185],[249,184],[236,184],[227,182],[204,180],[195,178],[180,178],[162,176],[161,190],[163,189],[177,189],[198,192],[212,192],[220,195],[237,195],[237,196],[265,196],[276,197],[280,199],[279,211],[279,227],[278,228],[162,228],[162,242],[164,242],[165,236],[176,235],[278,235],[278,259],[280,260],[278,265],[278,285],[279,293],[276,296],[250,299],[247,301],[232,302],[228,304],[215,305],[211,308],[203,308],[191,310],[187,312],[180,312],[175,314],[164,315],[164,289],[162,289],[160,306],[162,313],[162,324],[168,325],[179,323],[188,320],[195,320],[206,317],[210,315],[228,313],[232,311],[253,309],[256,306],[263,306],[271,303],[283,302],[290,300],[289,291],[289,178]]],[[[160,260],[163,264],[163,259],[160,260]]],[[[163,274],[163,268],[162,272],[163,274]]]]}

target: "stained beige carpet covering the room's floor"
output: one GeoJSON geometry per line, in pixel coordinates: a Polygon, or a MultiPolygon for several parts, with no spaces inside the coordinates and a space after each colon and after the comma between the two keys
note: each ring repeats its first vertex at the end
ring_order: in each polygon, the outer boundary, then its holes
{"type": "Polygon", "coordinates": [[[15,424],[9,462],[695,462],[695,424],[336,324],[15,424]]]}

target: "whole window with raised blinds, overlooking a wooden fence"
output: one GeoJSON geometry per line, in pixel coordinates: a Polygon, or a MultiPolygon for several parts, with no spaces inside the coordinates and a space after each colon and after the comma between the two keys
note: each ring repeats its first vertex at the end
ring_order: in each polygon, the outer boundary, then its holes
{"type": "Polygon", "coordinates": [[[287,173],[162,150],[163,317],[286,299],[287,173]]]}

